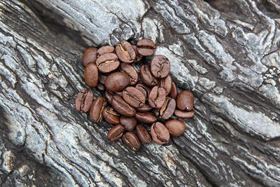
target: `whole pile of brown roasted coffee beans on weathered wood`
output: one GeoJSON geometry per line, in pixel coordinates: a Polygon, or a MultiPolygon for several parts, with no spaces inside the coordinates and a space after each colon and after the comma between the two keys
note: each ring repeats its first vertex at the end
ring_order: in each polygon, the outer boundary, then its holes
{"type": "Polygon", "coordinates": [[[167,144],[170,135],[183,134],[186,124],[170,119],[173,114],[185,119],[195,115],[193,93],[178,93],[169,75],[167,57],[155,55],[151,64],[140,64],[155,49],[153,41],[141,39],[136,46],[122,41],[115,47],[87,48],[83,54],[85,83],[104,92],[104,97],[96,98],[91,90],[80,90],[76,109],[89,113],[93,123],[111,123],[109,141],[122,139],[133,151],[138,151],[141,143],[167,144]],[[134,64],[141,65],[140,72],[134,64]]]}

